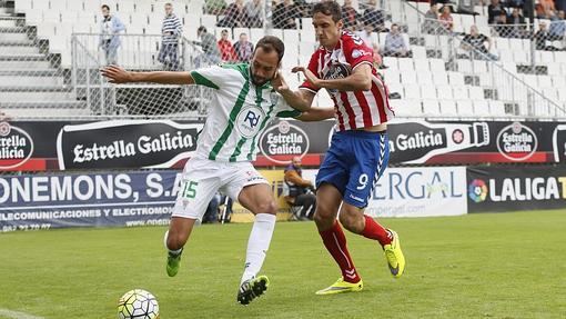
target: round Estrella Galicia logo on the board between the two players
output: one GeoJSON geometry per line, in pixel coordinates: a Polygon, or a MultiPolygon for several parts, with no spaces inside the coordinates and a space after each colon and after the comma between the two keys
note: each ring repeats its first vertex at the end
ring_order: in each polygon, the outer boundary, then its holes
{"type": "Polygon", "coordinates": [[[287,121],[280,121],[266,129],[260,140],[262,154],[276,163],[290,163],[295,156],[309,152],[310,141],[306,133],[287,121]]]}

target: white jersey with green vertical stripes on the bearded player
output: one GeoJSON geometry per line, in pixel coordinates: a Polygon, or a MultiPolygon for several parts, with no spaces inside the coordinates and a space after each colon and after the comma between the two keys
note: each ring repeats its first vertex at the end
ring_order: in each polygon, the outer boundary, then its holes
{"type": "Polygon", "coordinates": [[[209,116],[199,136],[196,158],[215,161],[253,161],[260,137],[274,119],[294,118],[291,108],[271,82],[252,83],[250,66],[222,64],[191,72],[196,84],[214,89],[209,116]]]}

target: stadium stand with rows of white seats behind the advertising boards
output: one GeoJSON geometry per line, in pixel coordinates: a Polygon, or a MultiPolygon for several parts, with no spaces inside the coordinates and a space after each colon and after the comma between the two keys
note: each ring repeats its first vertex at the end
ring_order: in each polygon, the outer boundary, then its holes
{"type": "MultiPolygon", "coordinates": [[[[205,90],[155,86],[112,89],[97,76],[97,69],[104,63],[97,34],[102,18],[100,6],[108,4],[112,14],[125,24],[119,63],[128,69],[155,70],[161,68],[156,58],[165,2],[173,4],[183,23],[181,59],[183,68],[191,69],[194,57],[200,53],[200,48],[194,46],[199,40],[196,29],[204,26],[216,39],[225,29],[216,27],[223,16],[209,13],[204,0],[4,1],[7,8],[0,13],[0,93],[3,97],[0,107],[13,117],[204,113],[205,90]],[[149,92],[142,93],[139,88],[146,88],[149,92]],[[175,107],[166,107],[169,104],[175,107]]],[[[367,2],[352,1],[352,6],[361,14],[367,2]]],[[[491,26],[484,6],[476,6],[478,14],[474,16],[452,13],[454,27],[448,31],[442,23],[426,20],[429,3],[378,2],[385,28],[393,22],[400,24],[413,52],[411,58],[383,59],[387,68],[381,72],[397,114],[564,117],[566,93],[560,89],[566,74],[564,40],[545,40],[555,51],[535,50],[535,39],[516,37],[517,30],[530,30],[532,26],[491,26]],[[424,24],[427,27],[423,28],[424,24]],[[489,38],[492,44],[487,53],[497,60],[465,49],[463,38],[472,26],[477,26],[478,32],[489,38]]],[[[306,64],[316,48],[312,19],[307,14],[294,19],[296,29],[273,29],[267,24],[265,28],[229,28],[233,41],[242,32],[247,33],[252,42],[266,32],[281,37],[286,43],[283,71],[292,87],[299,86],[301,79],[291,74],[290,69],[306,64]]],[[[544,22],[550,23],[535,19],[533,29],[537,30],[544,22]]],[[[371,39],[383,48],[386,34],[374,32],[371,39]]],[[[320,94],[315,103],[332,101],[327,94],[320,94]]]]}

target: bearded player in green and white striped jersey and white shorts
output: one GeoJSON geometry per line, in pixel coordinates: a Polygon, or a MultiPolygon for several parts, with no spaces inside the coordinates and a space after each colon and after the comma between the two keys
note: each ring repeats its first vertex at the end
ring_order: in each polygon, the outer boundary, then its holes
{"type": "Polygon", "coordinates": [[[186,162],[165,247],[166,271],[179,271],[183,247],[196,221],[218,190],[255,215],[247,241],[244,272],[236,300],[247,305],[269,286],[259,276],[275,227],[276,203],[271,186],[251,165],[257,152],[259,137],[275,117],[314,121],[334,117],[334,108],[310,108],[292,104],[294,93],[279,73],[284,44],[276,37],[262,38],[251,64],[223,64],[191,72],[128,72],[107,67],[102,74],[113,83],[156,82],[199,84],[212,88],[206,123],[199,136],[196,153],[186,162]]]}

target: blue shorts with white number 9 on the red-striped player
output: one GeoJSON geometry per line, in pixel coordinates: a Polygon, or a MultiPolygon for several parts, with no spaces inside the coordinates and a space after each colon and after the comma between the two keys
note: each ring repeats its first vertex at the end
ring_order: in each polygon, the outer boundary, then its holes
{"type": "Polygon", "coordinates": [[[316,176],[316,187],[331,183],[345,202],[364,208],[388,160],[386,132],[336,132],[316,176]]]}

